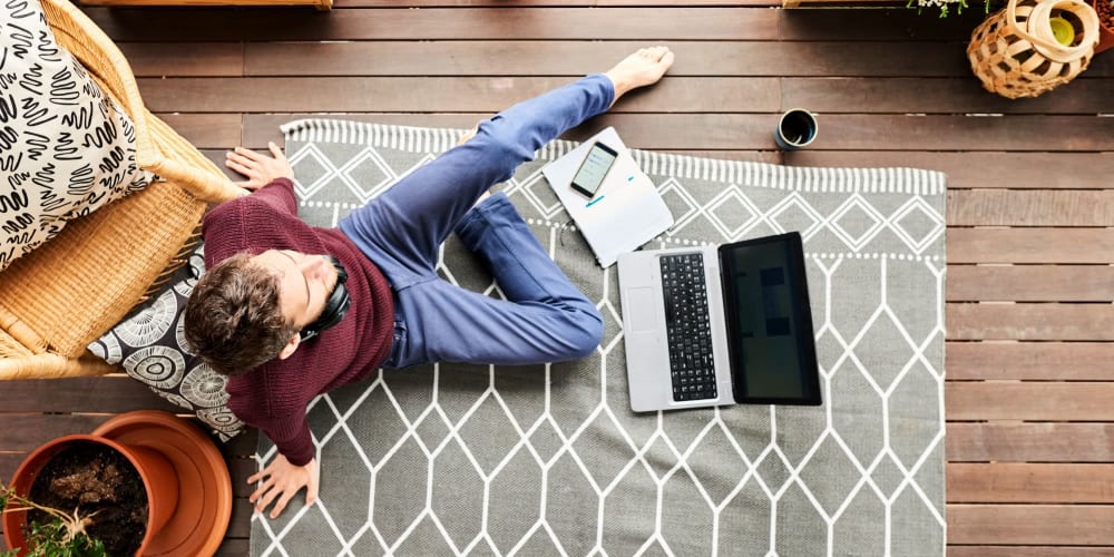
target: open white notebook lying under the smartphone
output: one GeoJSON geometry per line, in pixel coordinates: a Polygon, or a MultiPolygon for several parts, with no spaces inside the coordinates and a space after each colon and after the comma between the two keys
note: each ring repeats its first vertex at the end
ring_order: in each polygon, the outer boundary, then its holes
{"type": "Polygon", "coordinates": [[[565,204],[603,267],[613,265],[620,253],[637,250],[673,226],[670,208],[613,127],[546,165],[541,174],[565,204]],[[596,141],[618,152],[618,157],[598,193],[589,201],[569,187],[569,183],[596,141]]]}

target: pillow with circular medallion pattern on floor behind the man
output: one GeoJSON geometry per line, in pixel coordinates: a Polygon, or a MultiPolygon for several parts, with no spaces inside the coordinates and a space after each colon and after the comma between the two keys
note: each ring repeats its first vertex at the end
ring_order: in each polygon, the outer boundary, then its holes
{"type": "Polygon", "coordinates": [[[183,336],[182,313],[204,272],[204,247],[198,247],[169,289],[89,344],[89,351],[123,367],[159,397],[196,413],[221,440],[227,441],[244,427],[226,405],[227,378],[194,354],[183,336]]]}

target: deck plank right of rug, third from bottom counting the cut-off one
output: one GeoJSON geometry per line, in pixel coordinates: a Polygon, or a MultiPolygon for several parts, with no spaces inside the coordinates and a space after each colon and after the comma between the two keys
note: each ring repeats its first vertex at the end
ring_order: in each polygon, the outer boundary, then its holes
{"type": "Polygon", "coordinates": [[[1114,465],[959,463],[947,467],[949,502],[1114,504],[1114,465]]]}

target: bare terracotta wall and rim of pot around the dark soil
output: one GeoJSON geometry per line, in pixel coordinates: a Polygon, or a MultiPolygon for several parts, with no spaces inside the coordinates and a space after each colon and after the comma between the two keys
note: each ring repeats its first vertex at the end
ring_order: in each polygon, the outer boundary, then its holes
{"type": "MultiPolygon", "coordinates": [[[[114,449],[123,455],[143,480],[147,491],[147,530],[139,544],[138,554],[143,554],[147,546],[158,535],[174,515],[178,505],[178,481],[174,473],[170,461],[160,452],[146,448],[125,443],[118,443],[110,439],[98,436],[76,434],[65,436],[48,441],[33,452],[28,455],[23,462],[16,469],[10,488],[17,494],[27,496],[31,491],[43,466],[50,462],[62,451],[74,448],[79,443],[99,444],[114,449]]],[[[70,509],[60,509],[69,511],[70,509]]],[[[23,539],[23,524],[27,520],[27,511],[6,512],[3,515],[3,537],[10,548],[22,548],[26,546],[23,539]]],[[[21,551],[22,555],[23,551],[21,551]]]]}

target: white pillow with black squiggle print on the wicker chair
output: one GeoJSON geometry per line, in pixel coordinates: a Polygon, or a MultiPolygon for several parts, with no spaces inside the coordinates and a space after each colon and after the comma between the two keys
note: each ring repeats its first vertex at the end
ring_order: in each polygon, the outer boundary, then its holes
{"type": "Polygon", "coordinates": [[[143,189],[135,126],[55,42],[39,0],[0,2],[0,270],[143,189]]]}

